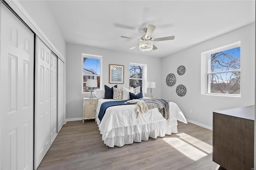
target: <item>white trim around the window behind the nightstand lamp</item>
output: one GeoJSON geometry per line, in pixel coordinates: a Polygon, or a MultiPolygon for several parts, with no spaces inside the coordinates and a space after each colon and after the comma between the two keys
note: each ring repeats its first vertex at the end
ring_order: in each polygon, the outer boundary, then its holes
{"type": "MultiPolygon", "coordinates": [[[[94,55],[94,54],[86,54],[86,53],[82,53],[82,60],[81,60],[81,63],[82,63],[82,68],[81,68],[81,77],[82,77],[82,94],[86,94],[86,93],[91,93],[91,92],[84,92],[83,91],[83,88],[84,88],[84,82],[83,82],[83,76],[84,76],[84,72],[83,72],[83,69],[84,69],[84,57],[88,57],[88,58],[96,58],[96,59],[100,59],[100,89],[102,89],[102,55],[94,55]]],[[[94,93],[94,92],[93,92],[94,93]]]]}

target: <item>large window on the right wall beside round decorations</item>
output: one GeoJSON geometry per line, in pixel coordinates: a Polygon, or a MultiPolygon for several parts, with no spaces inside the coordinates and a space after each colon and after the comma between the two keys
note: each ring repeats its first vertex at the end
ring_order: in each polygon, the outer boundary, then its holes
{"type": "Polygon", "coordinates": [[[205,53],[206,93],[240,96],[240,42],[205,53]]]}

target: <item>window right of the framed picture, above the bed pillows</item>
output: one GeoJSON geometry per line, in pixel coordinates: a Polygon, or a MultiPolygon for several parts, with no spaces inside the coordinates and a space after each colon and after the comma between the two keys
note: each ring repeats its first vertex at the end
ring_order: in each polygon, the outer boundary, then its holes
{"type": "Polygon", "coordinates": [[[140,86],[142,91],[146,93],[146,82],[147,82],[147,65],[138,64],[138,63],[130,63],[129,69],[129,86],[130,87],[138,87],[140,86]]]}

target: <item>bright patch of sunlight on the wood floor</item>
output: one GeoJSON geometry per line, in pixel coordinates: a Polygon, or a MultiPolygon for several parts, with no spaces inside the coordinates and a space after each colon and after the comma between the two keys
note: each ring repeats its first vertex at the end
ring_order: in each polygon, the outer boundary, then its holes
{"type": "Polygon", "coordinates": [[[188,158],[196,161],[212,153],[212,146],[186,133],[179,133],[178,138],[163,138],[163,140],[176,148],[188,158]],[[208,154],[207,154],[208,153],[208,154]]]}

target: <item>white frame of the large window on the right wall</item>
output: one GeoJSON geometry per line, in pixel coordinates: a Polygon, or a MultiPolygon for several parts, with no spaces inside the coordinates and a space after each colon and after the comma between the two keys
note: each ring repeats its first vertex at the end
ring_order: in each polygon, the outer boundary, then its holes
{"type": "Polygon", "coordinates": [[[220,51],[225,51],[228,49],[240,47],[241,50],[241,42],[231,43],[222,47],[218,47],[216,49],[212,49],[209,51],[205,51],[201,53],[201,94],[202,95],[218,95],[218,96],[230,96],[230,97],[241,97],[241,77],[240,77],[240,94],[227,94],[227,93],[210,93],[210,80],[208,79],[209,75],[216,73],[228,73],[228,72],[238,72],[240,71],[241,75],[241,51],[240,51],[240,69],[228,70],[228,71],[216,71],[210,72],[210,57],[213,53],[218,53],[220,51]]]}

